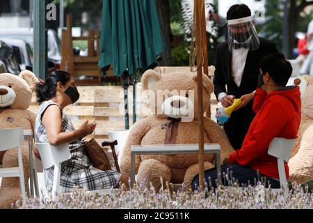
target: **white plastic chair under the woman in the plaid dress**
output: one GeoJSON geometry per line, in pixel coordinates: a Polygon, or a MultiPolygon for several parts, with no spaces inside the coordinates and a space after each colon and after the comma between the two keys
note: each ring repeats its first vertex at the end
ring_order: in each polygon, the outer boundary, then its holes
{"type": "MultiPolygon", "coordinates": [[[[61,164],[66,160],[70,160],[70,149],[68,148],[68,144],[52,146],[50,144],[35,143],[35,145],[38,147],[44,169],[54,166],[52,197],[55,197],[60,187],[61,164]]],[[[42,183],[40,183],[40,185],[42,185],[42,183]]],[[[43,183],[43,185],[45,185],[45,183],[43,183]]]]}

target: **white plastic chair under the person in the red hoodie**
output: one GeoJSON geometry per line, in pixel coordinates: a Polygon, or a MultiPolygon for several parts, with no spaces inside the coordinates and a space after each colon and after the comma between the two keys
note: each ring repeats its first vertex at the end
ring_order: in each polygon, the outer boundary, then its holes
{"type": "Polygon", "coordinates": [[[295,141],[296,139],[274,138],[268,147],[268,155],[277,157],[280,185],[284,188],[285,192],[289,191],[289,187],[286,178],[286,170],[284,169],[284,161],[289,161],[295,141]]]}

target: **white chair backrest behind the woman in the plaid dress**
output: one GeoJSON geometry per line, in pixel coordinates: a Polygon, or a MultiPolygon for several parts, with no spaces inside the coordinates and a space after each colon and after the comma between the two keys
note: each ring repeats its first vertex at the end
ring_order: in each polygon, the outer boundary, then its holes
{"type": "Polygon", "coordinates": [[[52,146],[47,143],[36,143],[35,145],[38,147],[42,165],[45,169],[48,169],[49,167],[62,163],[66,160],[70,160],[71,158],[68,144],[52,146]]]}

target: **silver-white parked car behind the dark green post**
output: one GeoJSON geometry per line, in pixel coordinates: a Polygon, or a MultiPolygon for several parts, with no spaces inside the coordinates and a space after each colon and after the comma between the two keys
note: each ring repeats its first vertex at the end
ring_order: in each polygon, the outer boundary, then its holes
{"type": "MultiPolygon", "coordinates": [[[[58,38],[56,31],[49,29],[47,32],[47,54],[48,59],[56,64],[56,70],[61,67],[61,40],[58,38]]],[[[24,40],[33,49],[33,29],[29,28],[10,28],[0,29],[0,38],[24,40]]]]}

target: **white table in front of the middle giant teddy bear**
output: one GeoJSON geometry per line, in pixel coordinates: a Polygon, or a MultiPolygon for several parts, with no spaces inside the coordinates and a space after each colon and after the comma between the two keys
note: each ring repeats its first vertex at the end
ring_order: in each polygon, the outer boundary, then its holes
{"type": "MultiPolygon", "coordinates": [[[[135,155],[166,155],[181,153],[198,153],[199,144],[140,145],[131,146],[131,187],[135,183],[135,155]]],[[[215,166],[220,178],[220,145],[204,144],[204,153],[214,153],[215,166]]]]}

